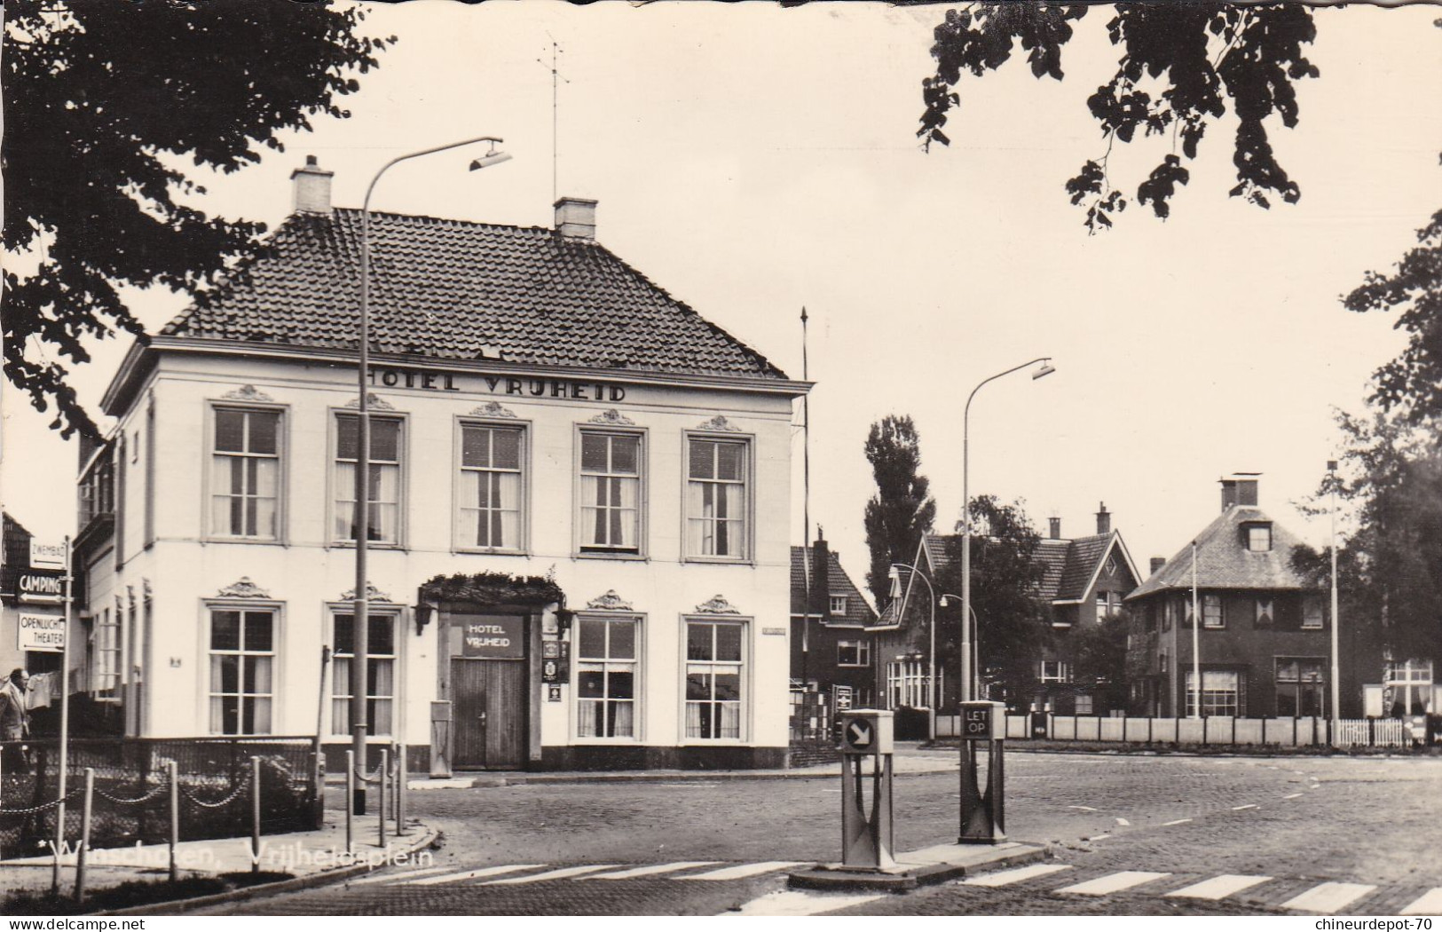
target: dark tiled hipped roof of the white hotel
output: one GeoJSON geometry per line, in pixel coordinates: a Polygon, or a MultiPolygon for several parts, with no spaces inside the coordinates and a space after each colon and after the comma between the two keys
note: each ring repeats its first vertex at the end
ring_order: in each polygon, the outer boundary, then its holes
{"type": "MultiPolygon", "coordinates": [[[[355,349],[360,211],[297,214],[170,336],[355,349]]],[[[786,378],[591,239],[371,214],[376,352],[786,378]]]]}

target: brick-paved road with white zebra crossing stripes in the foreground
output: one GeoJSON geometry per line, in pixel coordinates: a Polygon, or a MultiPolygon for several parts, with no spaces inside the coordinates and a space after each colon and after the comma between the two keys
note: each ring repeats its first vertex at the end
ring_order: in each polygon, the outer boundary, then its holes
{"type": "MultiPolygon", "coordinates": [[[[1008,830],[1012,838],[1054,845],[1045,871],[904,896],[786,892],[790,863],[839,856],[836,783],[676,781],[412,792],[412,812],[446,832],[433,866],[229,912],[1442,912],[1442,892],[1435,892],[1442,887],[1439,759],[1014,753],[1008,830]]],[[[898,778],[895,812],[900,850],[953,841],[955,773],[898,778]]]]}

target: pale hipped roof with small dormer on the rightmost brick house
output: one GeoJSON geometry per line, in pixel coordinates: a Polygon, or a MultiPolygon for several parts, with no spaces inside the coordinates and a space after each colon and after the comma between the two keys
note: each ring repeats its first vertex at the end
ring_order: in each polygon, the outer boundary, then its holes
{"type": "MultiPolygon", "coordinates": [[[[1260,508],[1234,505],[1197,535],[1197,586],[1201,589],[1306,589],[1292,570],[1292,548],[1301,541],[1260,508]],[[1249,521],[1272,522],[1272,550],[1253,553],[1242,538],[1249,521]]],[[[1191,541],[1126,597],[1165,589],[1191,589],[1191,541]]]]}

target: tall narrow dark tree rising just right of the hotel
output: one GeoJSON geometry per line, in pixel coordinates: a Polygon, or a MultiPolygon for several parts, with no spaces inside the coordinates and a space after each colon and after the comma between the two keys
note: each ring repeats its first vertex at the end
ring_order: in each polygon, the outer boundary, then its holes
{"type": "Polygon", "coordinates": [[[877,480],[877,493],[867,502],[867,548],[871,567],[867,589],[877,605],[890,597],[893,563],[911,563],[921,535],[932,531],[936,502],[927,493],[930,482],[921,467],[921,440],[910,416],[888,414],[871,426],[867,462],[877,480]]]}

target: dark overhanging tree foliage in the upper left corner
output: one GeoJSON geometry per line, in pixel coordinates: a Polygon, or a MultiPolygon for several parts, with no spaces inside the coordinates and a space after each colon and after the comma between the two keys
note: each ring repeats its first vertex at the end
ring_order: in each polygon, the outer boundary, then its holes
{"type": "Polygon", "coordinates": [[[7,0],[4,374],[68,437],[97,427],[63,361],[85,338],[141,333],[124,286],[199,291],[264,232],[206,216],[182,167],[235,172],[281,149],[394,39],[329,1],[7,0]]]}

